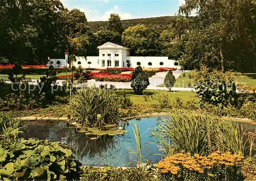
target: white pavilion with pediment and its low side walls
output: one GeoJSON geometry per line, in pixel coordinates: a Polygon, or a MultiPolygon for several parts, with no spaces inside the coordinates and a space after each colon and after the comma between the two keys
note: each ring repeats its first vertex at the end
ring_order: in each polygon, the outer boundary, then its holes
{"type": "MultiPolygon", "coordinates": [[[[159,68],[159,67],[169,67],[169,68],[177,68],[174,65],[175,60],[170,60],[168,57],[139,57],[139,56],[130,56],[130,48],[107,42],[101,46],[98,46],[99,56],[88,56],[84,57],[76,57],[77,61],[73,62],[73,66],[82,68],[99,68],[104,69],[108,67],[127,67],[126,61],[129,60],[131,66],[136,68],[138,63],[140,63],[141,67],[145,68],[159,68]],[[150,64],[150,65],[148,65],[150,64]],[[152,64],[152,65],[151,65],[152,64]]],[[[64,59],[52,59],[52,65],[54,67],[63,67],[66,65],[66,61],[64,59]],[[62,60],[62,61],[60,61],[62,60]],[[60,61],[61,64],[57,64],[56,62],[60,61]]],[[[58,62],[59,63],[59,62],[58,62]]]]}

